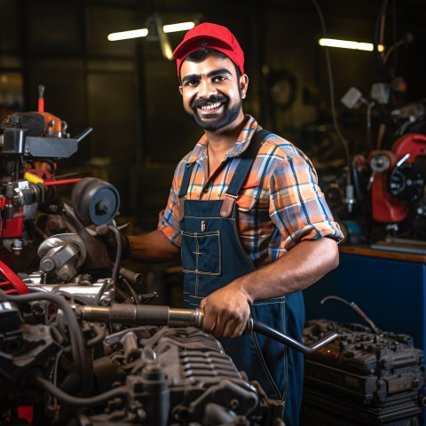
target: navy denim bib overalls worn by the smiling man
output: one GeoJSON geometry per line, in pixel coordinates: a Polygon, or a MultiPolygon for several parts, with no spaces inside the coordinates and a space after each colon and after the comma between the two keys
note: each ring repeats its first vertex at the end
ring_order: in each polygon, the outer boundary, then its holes
{"type": "MultiPolygon", "coordinates": [[[[230,160],[239,164],[225,200],[185,200],[194,162],[186,165],[179,191],[185,308],[199,306],[205,296],[256,269],[241,246],[234,201],[266,134],[266,130],[258,131],[246,152],[230,160]]],[[[253,319],[288,335],[290,329],[291,337],[302,341],[301,292],[256,301],[250,311],[253,319]]],[[[269,398],[281,400],[283,406],[285,403],[286,426],[296,426],[302,398],[303,355],[257,333],[218,340],[248,380],[256,380],[269,398]]]]}

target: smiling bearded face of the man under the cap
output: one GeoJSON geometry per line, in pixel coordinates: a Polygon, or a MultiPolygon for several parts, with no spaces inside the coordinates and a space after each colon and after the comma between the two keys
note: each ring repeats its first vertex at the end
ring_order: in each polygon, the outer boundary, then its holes
{"type": "Polygon", "coordinates": [[[238,79],[231,59],[210,55],[201,62],[185,60],[180,75],[185,111],[201,129],[231,128],[243,117],[241,99],[245,98],[248,78],[242,75],[238,79]]]}

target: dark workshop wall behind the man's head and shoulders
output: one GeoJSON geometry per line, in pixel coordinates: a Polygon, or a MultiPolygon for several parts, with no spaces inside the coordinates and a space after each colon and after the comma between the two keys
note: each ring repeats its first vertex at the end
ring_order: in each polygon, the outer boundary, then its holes
{"type": "MultiPolygon", "coordinates": [[[[373,41],[381,1],[318,4],[327,36],[373,41]]],[[[2,118],[35,111],[43,84],[45,110],[65,120],[71,136],[92,127],[78,153],[59,162],[59,174],[74,170],[115,185],[121,217],[134,226],[130,233],[156,225],[177,161],[201,136],[183,111],[176,64],[162,57],[159,41],[106,39],[111,32],[145,28],[154,13],[164,24],[194,20],[230,28],[245,51],[245,112],[304,149],[324,179],[344,165],[343,146],[331,126],[319,13],[310,0],[0,0],[2,118]]],[[[385,16],[386,46],[407,31],[414,35],[390,63],[406,81],[401,102],[418,102],[426,98],[426,2],[390,1],[385,16]]],[[[184,34],[169,35],[173,49],[184,34]]],[[[365,110],[348,110],[340,99],[351,86],[368,98],[375,58],[372,52],[342,49],[329,49],[329,55],[337,121],[351,154],[361,153],[367,148],[365,110]]]]}

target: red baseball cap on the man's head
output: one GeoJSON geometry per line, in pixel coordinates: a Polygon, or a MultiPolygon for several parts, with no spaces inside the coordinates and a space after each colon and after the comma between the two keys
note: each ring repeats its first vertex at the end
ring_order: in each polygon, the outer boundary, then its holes
{"type": "Polygon", "coordinates": [[[240,68],[241,74],[244,74],[244,52],[233,33],[221,25],[203,22],[191,28],[185,34],[182,43],[173,51],[173,56],[177,59],[177,76],[179,78],[180,67],[185,58],[193,51],[198,51],[203,47],[221,51],[240,68]]]}

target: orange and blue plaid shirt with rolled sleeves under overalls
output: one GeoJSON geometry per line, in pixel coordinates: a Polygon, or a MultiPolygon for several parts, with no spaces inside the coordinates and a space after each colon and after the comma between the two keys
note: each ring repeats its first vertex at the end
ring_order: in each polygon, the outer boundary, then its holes
{"type": "MultiPolygon", "coordinates": [[[[208,178],[207,138],[204,135],[178,163],[167,208],[160,215],[158,229],[180,247],[177,200],[187,162],[195,162],[187,200],[219,200],[233,178],[238,162],[233,157],[247,149],[260,129],[247,115],[247,122],[235,145],[217,171],[208,178]]],[[[237,198],[237,229],[242,247],[256,267],[284,255],[297,242],[328,236],[343,239],[317,182],[312,162],[285,139],[269,135],[237,198]]]]}

